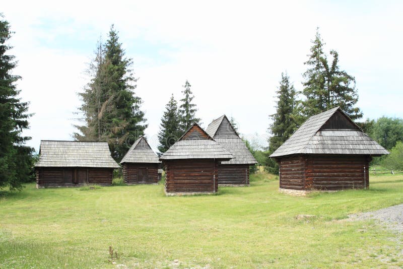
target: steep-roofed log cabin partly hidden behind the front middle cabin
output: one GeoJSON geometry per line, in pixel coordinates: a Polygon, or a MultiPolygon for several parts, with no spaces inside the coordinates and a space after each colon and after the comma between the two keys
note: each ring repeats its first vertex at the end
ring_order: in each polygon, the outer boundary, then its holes
{"type": "Polygon", "coordinates": [[[218,165],[218,184],[222,186],[249,185],[249,166],[257,164],[226,115],[213,120],[206,132],[228,150],[233,159],[218,165]]]}

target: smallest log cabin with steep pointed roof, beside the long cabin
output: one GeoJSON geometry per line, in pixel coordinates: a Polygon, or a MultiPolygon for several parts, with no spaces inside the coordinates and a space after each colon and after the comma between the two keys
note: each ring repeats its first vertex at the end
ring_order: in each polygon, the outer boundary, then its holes
{"type": "Polygon", "coordinates": [[[158,168],[161,162],[151,149],[145,137],[140,137],[124,155],[123,179],[126,184],[153,184],[159,180],[158,168]]]}

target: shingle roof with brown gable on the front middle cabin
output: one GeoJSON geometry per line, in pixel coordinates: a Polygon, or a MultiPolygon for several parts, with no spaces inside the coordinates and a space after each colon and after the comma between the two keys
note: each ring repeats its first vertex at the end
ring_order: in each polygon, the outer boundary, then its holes
{"type": "Polygon", "coordinates": [[[194,123],[185,134],[172,145],[160,160],[174,159],[222,159],[233,158],[223,146],[214,141],[205,130],[194,123]]]}

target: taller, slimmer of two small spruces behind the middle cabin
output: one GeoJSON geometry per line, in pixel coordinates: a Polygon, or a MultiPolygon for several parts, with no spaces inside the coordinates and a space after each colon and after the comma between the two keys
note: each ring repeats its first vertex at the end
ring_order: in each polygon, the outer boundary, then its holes
{"type": "Polygon", "coordinates": [[[180,127],[182,132],[190,128],[193,123],[200,123],[200,119],[196,118],[197,108],[196,105],[192,103],[194,96],[190,87],[190,83],[186,80],[185,85],[183,85],[185,89],[182,91],[184,97],[180,99],[182,103],[179,106],[180,127]]]}

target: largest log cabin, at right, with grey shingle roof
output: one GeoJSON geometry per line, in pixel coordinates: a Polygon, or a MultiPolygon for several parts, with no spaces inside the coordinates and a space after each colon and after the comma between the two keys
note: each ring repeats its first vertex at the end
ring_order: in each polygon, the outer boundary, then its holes
{"type": "Polygon", "coordinates": [[[280,167],[280,191],[369,188],[369,162],[389,154],[340,107],[308,118],[270,157],[280,167]]]}

